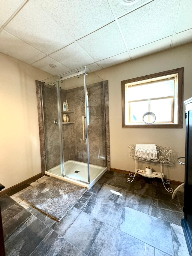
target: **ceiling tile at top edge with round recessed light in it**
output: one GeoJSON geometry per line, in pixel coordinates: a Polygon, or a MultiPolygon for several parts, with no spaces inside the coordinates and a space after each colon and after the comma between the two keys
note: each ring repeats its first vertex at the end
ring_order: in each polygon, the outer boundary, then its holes
{"type": "Polygon", "coordinates": [[[153,0],[143,0],[138,1],[134,5],[122,5],[118,0],[109,0],[114,8],[116,16],[119,18],[125,14],[128,14],[131,11],[134,11],[137,8],[140,8],[142,5],[145,5],[153,0]]]}

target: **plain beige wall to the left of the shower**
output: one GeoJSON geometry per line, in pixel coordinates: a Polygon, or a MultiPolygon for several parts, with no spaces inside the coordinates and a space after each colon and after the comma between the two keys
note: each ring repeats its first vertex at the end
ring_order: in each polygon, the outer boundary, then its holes
{"type": "Polygon", "coordinates": [[[0,183],[41,173],[35,80],[51,75],[0,53],[0,183]]]}

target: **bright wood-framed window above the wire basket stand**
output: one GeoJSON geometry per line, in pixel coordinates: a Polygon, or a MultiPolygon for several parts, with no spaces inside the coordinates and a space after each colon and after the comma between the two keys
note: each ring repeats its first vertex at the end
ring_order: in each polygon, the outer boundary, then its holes
{"type": "Polygon", "coordinates": [[[123,128],[182,128],[184,68],[122,81],[123,128]],[[146,112],[155,114],[155,122],[146,112]]]}

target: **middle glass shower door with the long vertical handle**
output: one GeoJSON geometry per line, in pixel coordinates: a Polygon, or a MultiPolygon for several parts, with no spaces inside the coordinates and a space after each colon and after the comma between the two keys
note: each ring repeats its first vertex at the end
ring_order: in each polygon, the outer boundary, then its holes
{"type": "Polygon", "coordinates": [[[59,86],[61,103],[67,100],[69,104],[68,111],[61,109],[61,115],[69,118],[69,122],[62,121],[65,176],[88,183],[84,76],[63,78],[59,86]]]}

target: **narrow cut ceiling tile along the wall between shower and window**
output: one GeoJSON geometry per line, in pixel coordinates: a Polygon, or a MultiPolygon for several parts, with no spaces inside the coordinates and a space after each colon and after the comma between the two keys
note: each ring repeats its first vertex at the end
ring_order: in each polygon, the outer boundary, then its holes
{"type": "Polygon", "coordinates": [[[98,61],[98,64],[101,65],[103,68],[110,67],[112,65],[116,65],[125,61],[130,60],[128,52],[118,54],[116,56],[98,61]]]}

